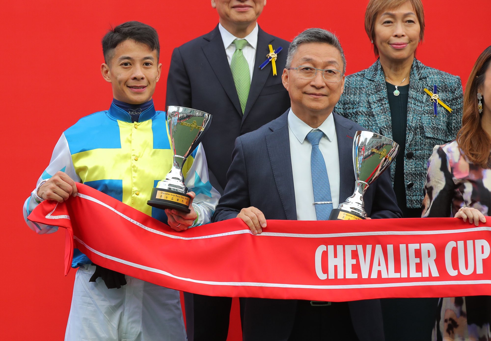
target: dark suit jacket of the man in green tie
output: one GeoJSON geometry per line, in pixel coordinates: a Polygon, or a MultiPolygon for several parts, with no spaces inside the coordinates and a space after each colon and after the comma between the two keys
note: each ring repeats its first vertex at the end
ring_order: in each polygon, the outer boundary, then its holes
{"type": "Polygon", "coordinates": [[[213,115],[202,143],[208,168],[222,189],[225,188],[235,139],[278,118],[290,106],[290,97],[281,82],[289,46],[286,40],[259,27],[256,61],[244,115],[218,25],[210,33],[172,52],[165,105],[190,107],[213,115]],[[268,44],[273,49],[283,48],[276,60],[278,74],[275,76],[271,62],[259,70],[269,53],[268,44]]]}

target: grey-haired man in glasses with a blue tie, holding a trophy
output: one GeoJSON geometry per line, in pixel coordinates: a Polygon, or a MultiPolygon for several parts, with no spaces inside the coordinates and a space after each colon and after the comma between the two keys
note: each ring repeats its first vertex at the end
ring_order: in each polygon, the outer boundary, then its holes
{"type": "MultiPolygon", "coordinates": [[[[257,235],[267,230],[266,219],[327,220],[353,194],[353,136],[363,128],[332,112],[345,71],[334,34],[310,28],[295,37],[282,75],[291,108],[237,138],[213,221],[241,218],[257,235]]],[[[364,200],[371,219],[401,217],[388,172],[370,185],[364,200]]],[[[383,341],[380,301],[247,298],[244,341],[260,340],[383,341]]]]}

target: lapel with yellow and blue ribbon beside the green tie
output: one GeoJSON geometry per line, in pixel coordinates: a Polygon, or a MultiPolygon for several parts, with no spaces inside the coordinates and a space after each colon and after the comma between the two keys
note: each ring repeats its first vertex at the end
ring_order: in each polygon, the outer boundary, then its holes
{"type": "MultiPolygon", "coordinates": [[[[264,84],[268,79],[268,76],[272,74],[272,66],[269,63],[263,70],[259,70],[259,66],[266,60],[266,55],[269,53],[268,44],[270,44],[274,37],[258,27],[259,30],[257,32],[257,46],[256,46],[256,61],[254,62],[254,68],[252,71],[252,81],[250,83],[249,96],[247,97],[246,109],[244,110],[244,117],[242,118],[242,122],[246,119],[247,114],[249,113],[252,105],[256,102],[257,97],[263,90],[264,84]]],[[[273,49],[277,48],[273,46],[273,49]]],[[[275,77],[281,77],[281,72],[283,70],[277,70],[278,75],[275,77]]]]}

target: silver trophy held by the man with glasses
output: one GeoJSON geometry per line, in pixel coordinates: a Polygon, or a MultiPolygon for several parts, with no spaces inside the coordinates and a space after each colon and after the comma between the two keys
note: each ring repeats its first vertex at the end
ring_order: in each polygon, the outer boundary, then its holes
{"type": "Polygon", "coordinates": [[[355,193],[337,209],[329,220],[366,219],[363,195],[399,152],[399,145],[385,136],[358,130],[353,138],[353,165],[355,166],[355,193]]]}

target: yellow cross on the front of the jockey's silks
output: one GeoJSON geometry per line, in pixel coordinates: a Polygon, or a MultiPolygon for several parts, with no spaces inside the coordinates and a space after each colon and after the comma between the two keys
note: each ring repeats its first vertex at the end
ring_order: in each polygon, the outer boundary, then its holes
{"type": "MultiPolygon", "coordinates": [[[[171,149],[154,149],[152,120],[118,121],[121,148],[97,148],[72,155],[82,183],[95,180],[122,180],[123,203],[149,216],[147,205],[155,180],[165,179],[172,167],[171,149]]],[[[162,127],[164,128],[164,127],[162,127]]],[[[169,139],[166,130],[162,132],[169,139]]],[[[191,168],[192,156],[184,164],[183,174],[191,168]]]]}

